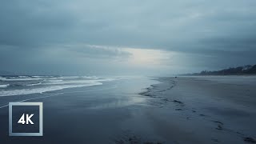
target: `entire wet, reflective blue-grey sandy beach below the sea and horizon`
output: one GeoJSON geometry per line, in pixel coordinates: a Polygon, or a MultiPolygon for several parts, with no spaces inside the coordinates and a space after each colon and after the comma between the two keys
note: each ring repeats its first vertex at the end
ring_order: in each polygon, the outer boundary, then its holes
{"type": "Polygon", "coordinates": [[[8,92],[0,143],[255,143],[255,87],[254,76],[132,77],[8,92]],[[7,105],[21,101],[43,102],[42,137],[9,137],[7,105]]]}

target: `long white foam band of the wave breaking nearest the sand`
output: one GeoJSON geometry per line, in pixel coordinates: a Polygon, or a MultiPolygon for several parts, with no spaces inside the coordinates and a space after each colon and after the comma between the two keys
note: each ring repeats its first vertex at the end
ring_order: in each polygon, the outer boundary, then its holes
{"type": "Polygon", "coordinates": [[[91,82],[91,83],[85,83],[85,84],[81,84],[81,85],[46,86],[46,87],[41,87],[41,88],[22,89],[22,90],[2,90],[2,91],[0,91],[0,96],[37,94],[37,93],[44,93],[47,91],[62,90],[62,89],[66,89],[66,88],[83,87],[83,86],[98,86],[98,85],[102,85],[102,83],[101,82],[91,82]]]}

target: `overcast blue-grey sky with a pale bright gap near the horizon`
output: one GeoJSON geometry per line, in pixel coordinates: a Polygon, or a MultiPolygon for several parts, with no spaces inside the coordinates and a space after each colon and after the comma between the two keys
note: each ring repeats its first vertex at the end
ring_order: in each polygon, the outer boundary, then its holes
{"type": "Polygon", "coordinates": [[[0,71],[14,74],[184,74],[255,55],[255,0],[0,2],[0,71]]]}

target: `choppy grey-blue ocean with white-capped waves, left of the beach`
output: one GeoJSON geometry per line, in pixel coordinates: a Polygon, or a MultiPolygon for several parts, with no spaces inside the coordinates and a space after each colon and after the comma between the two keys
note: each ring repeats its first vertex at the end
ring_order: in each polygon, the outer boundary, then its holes
{"type": "Polygon", "coordinates": [[[44,93],[66,88],[98,86],[120,78],[96,76],[0,76],[0,97],[44,93]]]}

